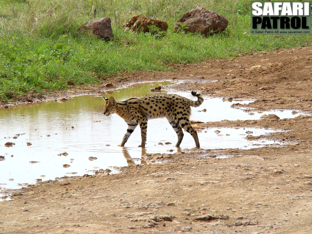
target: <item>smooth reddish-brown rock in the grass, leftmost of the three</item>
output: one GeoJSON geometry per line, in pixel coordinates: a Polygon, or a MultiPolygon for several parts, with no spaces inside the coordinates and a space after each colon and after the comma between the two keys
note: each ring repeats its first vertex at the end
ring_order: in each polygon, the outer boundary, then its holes
{"type": "Polygon", "coordinates": [[[110,17],[96,18],[83,25],[86,30],[92,30],[93,34],[110,40],[114,37],[110,17]]]}

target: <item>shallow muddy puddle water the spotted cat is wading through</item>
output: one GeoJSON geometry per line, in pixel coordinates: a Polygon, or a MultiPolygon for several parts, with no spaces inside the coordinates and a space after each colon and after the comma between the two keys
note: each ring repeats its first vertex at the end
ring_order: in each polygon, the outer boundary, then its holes
{"type": "MultiPolygon", "coordinates": [[[[166,85],[170,84],[172,83],[145,84],[120,89],[105,96],[112,95],[116,100],[125,100],[133,96],[154,94],[149,89],[158,85],[162,85],[166,90],[166,85]]],[[[164,90],[162,92],[166,92],[164,90]]],[[[193,98],[189,93],[178,94],[193,98]]],[[[248,115],[243,110],[231,108],[233,103],[248,102],[250,101],[223,102],[222,99],[208,98],[200,107],[193,109],[191,119],[204,122],[222,119],[259,119],[264,113],[248,115]],[[207,109],[206,112],[201,111],[204,108],[207,109]]],[[[144,153],[177,151],[174,147],[177,136],[167,119],[149,120],[144,150],[138,148],[141,142],[139,127],[129,138],[126,147],[118,147],[127,124],[117,115],[103,115],[103,105],[102,97],[85,95],[66,102],[51,100],[16,105],[8,109],[1,108],[0,155],[4,156],[5,160],[0,161],[0,187],[21,188],[38,180],[53,180],[65,175],[93,174],[96,170],[109,167],[115,172],[112,166],[144,163],[140,160],[144,153]],[[12,142],[14,145],[6,147],[4,146],[6,142],[12,142]],[[172,144],[165,144],[166,142],[172,144]],[[66,154],[62,154],[64,152],[66,154]]],[[[204,149],[249,149],[275,144],[269,140],[248,141],[245,139],[246,131],[252,131],[253,135],[274,132],[265,129],[219,128],[205,129],[198,133],[198,137],[204,149]],[[216,130],[220,133],[216,134],[216,130]]],[[[194,146],[193,138],[186,133],[181,148],[190,149],[194,146]]]]}

